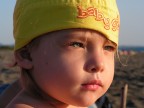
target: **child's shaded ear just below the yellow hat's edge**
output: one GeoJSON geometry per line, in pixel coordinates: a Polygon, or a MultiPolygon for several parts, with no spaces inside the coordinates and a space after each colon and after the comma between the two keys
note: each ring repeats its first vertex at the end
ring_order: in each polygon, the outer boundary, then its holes
{"type": "Polygon", "coordinates": [[[20,51],[15,52],[14,55],[18,66],[24,69],[32,69],[33,67],[32,60],[23,57],[20,51]]]}

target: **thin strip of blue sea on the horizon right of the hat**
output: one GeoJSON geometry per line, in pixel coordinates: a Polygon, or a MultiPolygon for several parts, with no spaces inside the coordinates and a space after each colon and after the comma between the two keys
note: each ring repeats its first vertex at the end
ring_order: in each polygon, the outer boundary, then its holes
{"type": "Polygon", "coordinates": [[[144,46],[119,46],[119,50],[144,52],[144,46]]]}

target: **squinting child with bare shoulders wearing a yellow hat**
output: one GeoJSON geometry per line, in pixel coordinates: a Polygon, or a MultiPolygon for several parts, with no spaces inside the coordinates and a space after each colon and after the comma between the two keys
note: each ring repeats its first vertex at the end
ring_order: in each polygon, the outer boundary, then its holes
{"type": "Polygon", "coordinates": [[[87,108],[109,88],[119,12],[111,0],[17,0],[23,89],[7,108],[87,108]]]}

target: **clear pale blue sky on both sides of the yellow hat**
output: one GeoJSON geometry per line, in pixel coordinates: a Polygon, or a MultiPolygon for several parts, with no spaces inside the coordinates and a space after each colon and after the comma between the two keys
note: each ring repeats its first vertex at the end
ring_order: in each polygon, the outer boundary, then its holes
{"type": "MultiPolygon", "coordinates": [[[[0,0],[0,44],[12,45],[16,0],[0,0]]],[[[144,0],[117,0],[121,25],[119,45],[144,46],[144,0]]]]}

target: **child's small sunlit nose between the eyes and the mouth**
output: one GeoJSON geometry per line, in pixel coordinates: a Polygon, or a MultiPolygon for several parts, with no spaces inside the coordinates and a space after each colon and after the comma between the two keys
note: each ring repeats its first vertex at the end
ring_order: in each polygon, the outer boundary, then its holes
{"type": "Polygon", "coordinates": [[[91,53],[86,62],[87,72],[102,72],[104,69],[104,56],[100,52],[91,53]]]}

